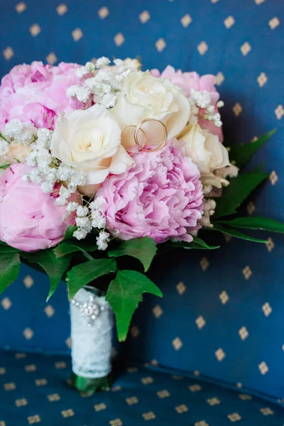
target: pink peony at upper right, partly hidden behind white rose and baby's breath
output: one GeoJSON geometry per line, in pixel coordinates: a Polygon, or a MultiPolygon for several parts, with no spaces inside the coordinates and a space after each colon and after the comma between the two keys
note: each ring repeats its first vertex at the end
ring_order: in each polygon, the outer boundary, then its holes
{"type": "MultiPolygon", "coordinates": [[[[216,104],[219,101],[219,93],[215,87],[216,77],[214,75],[207,74],[200,77],[197,72],[176,71],[175,68],[170,65],[168,65],[162,73],[160,73],[159,70],[154,69],[151,70],[151,74],[154,77],[166,78],[173,82],[173,84],[181,87],[185,91],[187,97],[190,97],[191,89],[195,89],[198,92],[206,90],[206,92],[209,92],[211,96],[212,105],[216,108],[216,111],[218,111],[216,104]]],[[[207,121],[205,119],[200,119],[199,124],[202,129],[208,129],[211,133],[219,137],[220,142],[223,142],[224,137],[221,127],[217,127],[213,121],[207,121]]]]}

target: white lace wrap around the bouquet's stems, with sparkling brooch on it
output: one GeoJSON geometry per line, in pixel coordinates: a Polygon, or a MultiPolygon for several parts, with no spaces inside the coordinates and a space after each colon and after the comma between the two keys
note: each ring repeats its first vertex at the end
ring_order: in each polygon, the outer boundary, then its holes
{"type": "Polygon", "coordinates": [[[111,338],[113,328],[113,312],[105,297],[81,288],[75,295],[76,302],[84,305],[90,296],[94,303],[104,307],[91,326],[80,312],[80,308],[70,302],[71,338],[72,338],[72,370],[77,376],[99,378],[107,376],[111,371],[111,338]]]}

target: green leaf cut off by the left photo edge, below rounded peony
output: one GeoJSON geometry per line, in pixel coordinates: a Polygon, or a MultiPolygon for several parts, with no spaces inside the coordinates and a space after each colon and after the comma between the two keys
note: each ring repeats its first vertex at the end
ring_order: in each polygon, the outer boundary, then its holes
{"type": "Polygon", "coordinates": [[[20,265],[21,261],[18,253],[0,254],[0,293],[17,279],[20,265]]]}

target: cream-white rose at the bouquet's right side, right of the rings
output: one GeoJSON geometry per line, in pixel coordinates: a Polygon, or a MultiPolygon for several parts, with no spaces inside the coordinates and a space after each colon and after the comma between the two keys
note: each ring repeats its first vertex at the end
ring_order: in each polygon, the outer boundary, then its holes
{"type": "Polygon", "coordinates": [[[230,165],[229,153],[218,136],[201,129],[199,124],[186,126],[178,136],[177,146],[197,165],[204,185],[221,187],[225,184],[221,177],[213,174],[214,170],[230,165]]]}

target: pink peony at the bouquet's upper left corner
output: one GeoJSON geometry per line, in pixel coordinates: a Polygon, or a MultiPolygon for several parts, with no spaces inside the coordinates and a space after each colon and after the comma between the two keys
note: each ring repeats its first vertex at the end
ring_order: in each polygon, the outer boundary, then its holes
{"type": "Polygon", "coordinates": [[[55,114],[81,109],[80,102],[66,97],[67,87],[80,84],[75,73],[79,66],[61,62],[53,67],[32,62],[13,67],[1,81],[0,131],[11,119],[31,120],[35,126],[49,127],[55,114]]]}

